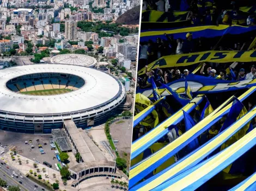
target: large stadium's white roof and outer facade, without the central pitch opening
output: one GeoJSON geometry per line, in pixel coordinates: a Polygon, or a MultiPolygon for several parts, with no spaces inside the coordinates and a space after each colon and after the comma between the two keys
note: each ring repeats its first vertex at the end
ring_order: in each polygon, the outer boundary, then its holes
{"type": "Polygon", "coordinates": [[[69,119],[78,127],[86,127],[105,120],[124,102],[125,97],[125,88],[119,80],[93,68],[39,64],[2,69],[0,128],[26,133],[51,133],[51,129],[62,128],[64,120],[69,119]],[[76,91],[58,95],[28,95],[7,87],[7,82],[12,79],[38,73],[72,74],[82,78],[85,84],[76,91]]]}

